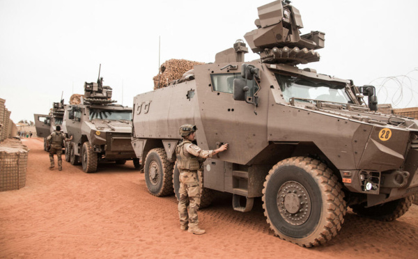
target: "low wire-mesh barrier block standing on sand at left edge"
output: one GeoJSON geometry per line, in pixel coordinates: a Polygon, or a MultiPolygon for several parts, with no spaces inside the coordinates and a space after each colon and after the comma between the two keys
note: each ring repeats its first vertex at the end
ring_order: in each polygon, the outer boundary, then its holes
{"type": "Polygon", "coordinates": [[[20,189],[26,185],[29,149],[17,139],[0,143],[0,191],[20,189]]]}

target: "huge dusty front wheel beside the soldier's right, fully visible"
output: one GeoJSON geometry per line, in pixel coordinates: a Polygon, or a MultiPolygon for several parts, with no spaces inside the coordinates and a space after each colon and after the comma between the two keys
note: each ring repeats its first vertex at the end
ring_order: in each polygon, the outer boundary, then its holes
{"type": "Polygon", "coordinates": [[[263,208],[270,228],[283,240],[318,246],[341,229],[346,202],[341,183],[316,159],[291,157],[265,178],[263,208]]]}

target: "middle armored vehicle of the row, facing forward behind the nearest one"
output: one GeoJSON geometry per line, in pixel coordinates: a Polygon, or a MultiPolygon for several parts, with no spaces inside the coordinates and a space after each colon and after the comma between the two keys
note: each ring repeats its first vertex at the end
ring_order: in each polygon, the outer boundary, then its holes
{"type": "Polygon", "coordinates": [[[101,161],[133,160],[135,168],[140,166],[130,143],[132,108],[113,104],[111,93],[99,72],[97,83],[84,83],[81,103],[65,107],[63,124],[68,136],[73,136],[65,146],[65,160],[81,163],[86,173],[95,172],[101,161]]]}

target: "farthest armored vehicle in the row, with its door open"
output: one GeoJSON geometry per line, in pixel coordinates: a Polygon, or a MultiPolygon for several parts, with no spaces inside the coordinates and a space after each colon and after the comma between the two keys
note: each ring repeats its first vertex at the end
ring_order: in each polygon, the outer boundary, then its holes
{"type": "Polygon", "coordinates": [[[61,98],[61,102],[54,102],[49,114],[33,114],[35,117],[36,134],[44,138],[44,150],[49,150],[47,136],[54,132],[56,126],[62,126],[65,104],[61,98]]]}

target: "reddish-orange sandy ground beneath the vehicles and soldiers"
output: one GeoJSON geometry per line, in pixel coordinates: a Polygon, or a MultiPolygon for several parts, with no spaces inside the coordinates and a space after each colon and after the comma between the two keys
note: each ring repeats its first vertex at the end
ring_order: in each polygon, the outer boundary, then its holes
{"type": "Polygon", "coordinates": [[[175,196],[148,194],[132,162],[49,171],[42,139],[22,142],[26,187],[0,192],[0,258],[417,258],[417,205],[389,223],[348,212],[337,237],[306,249],[274,237],[261,199],[242,213],[217,194],[199,212],[206,234],[192,235],[179,228],[175,196]]]}

